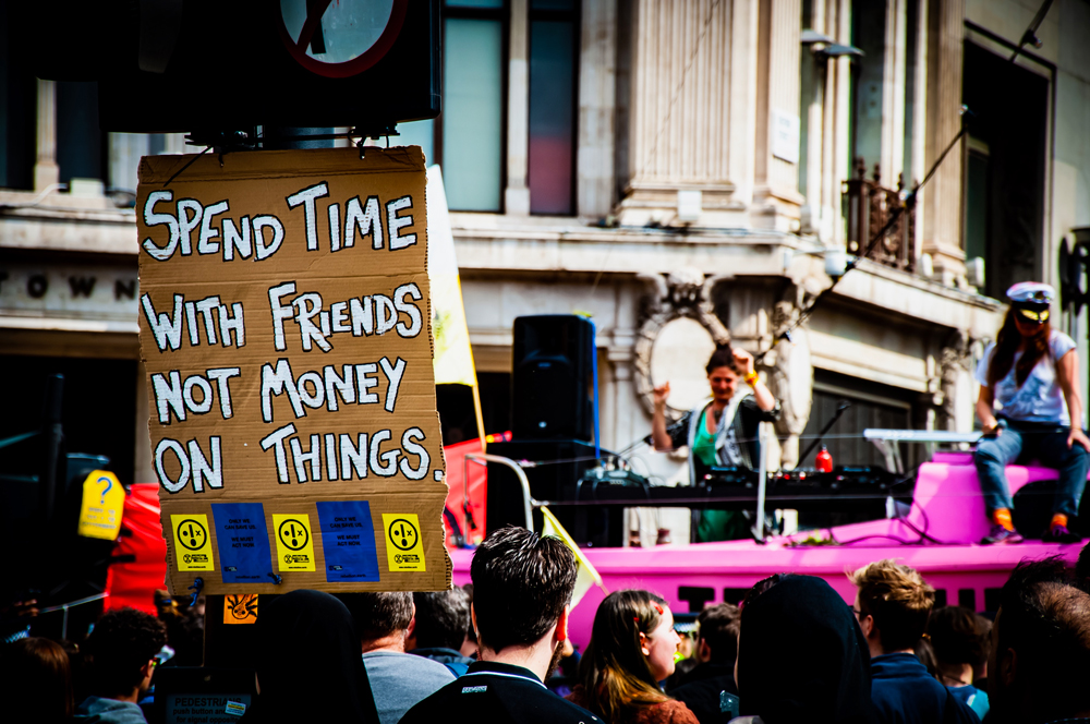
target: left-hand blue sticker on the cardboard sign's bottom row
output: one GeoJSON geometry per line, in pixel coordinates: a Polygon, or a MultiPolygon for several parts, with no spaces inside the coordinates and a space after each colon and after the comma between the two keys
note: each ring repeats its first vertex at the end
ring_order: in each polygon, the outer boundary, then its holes
{"type": "Polygon", "coordinates": [[[268,583],[272,570],[265,506],[261,503],[213,503],[216,543],[225,583],[268,583]]]}

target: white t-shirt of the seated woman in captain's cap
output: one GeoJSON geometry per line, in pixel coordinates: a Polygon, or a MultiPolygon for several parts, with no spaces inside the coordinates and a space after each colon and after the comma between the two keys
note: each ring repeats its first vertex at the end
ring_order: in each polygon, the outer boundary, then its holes
{"type": "MultiPolygon", "coordinates": [[[[1071,424],[1067,403],[1064,401],[1064,389],[1056,377],[1056,362],[1075,349],[1075,340],[1053,329],[1049,338],[1049,349],[1051,355],[1042,358],[1037,363],[1021,387],[1018,387],[1015,379],[1015,367],[1018,365],[1021,352],[1015,352],[1010,371],[992,390],[995,401],[1002,406],[1003,417],[1025,422],[1055,422],[1064,426],[1071,424]]],[[[977,365],[977,382],[985,387],[988,365],[993,354],[995,354],[995,342],[988,346],[984,357],[977,365]]]]}

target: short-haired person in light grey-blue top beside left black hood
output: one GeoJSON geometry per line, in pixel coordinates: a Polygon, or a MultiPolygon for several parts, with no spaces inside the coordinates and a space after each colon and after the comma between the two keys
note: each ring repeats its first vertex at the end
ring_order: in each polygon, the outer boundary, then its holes
{"type": "Polygon", "coordinates": [[[363,664],[382,724],[397,724],[419,701],[455,680],[448,666],[405,653],[416,625],[414,594],[342,593],[360,631],[363,664]]]}

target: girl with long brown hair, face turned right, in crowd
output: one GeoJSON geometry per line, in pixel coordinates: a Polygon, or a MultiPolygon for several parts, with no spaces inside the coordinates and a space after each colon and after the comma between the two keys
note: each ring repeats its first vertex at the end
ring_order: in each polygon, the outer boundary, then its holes
{"type": "Polygon", "coordinates": [[[647,591],[614,591],[598,605],[579,662],[581,683],[568,699],[607,724],[698,724],[689,708],[663,693],[681,643],[666,601],[647,591]]]}

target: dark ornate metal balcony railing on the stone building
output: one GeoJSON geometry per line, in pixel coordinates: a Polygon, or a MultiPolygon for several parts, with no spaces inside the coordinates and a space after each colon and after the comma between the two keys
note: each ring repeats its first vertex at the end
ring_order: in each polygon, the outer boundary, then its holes
{"type": "MultiPolygon", "coordinates": [[[[874,177],[867,179],[867,168],[862,159],[856,161],[856,178],[844,182],[844,200],[848,216],[848,251],[863,253],[871,238],[886,225],[893,213],[905,206],[901,192],[904,177],[897,180],[897,189],[879,185],[877,164],[874,177]]],[[[916,268],[916,208],[904,210],[893,228],[875,245],[869,258],[886,266],[906,272],[916,268]]]]}

